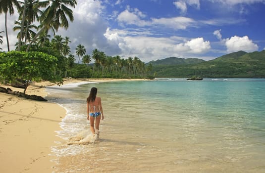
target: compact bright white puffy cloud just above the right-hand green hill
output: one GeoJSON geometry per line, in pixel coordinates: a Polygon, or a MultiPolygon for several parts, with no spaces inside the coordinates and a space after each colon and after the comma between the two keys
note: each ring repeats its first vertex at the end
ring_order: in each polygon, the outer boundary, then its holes
{"type": "Polygon", "coordinates": [[[239,50],[243,50],[246,52],[253,52],[257,51],[259,48],[259,46],[253,43],[252,40],[248,38],[248,36],[244,37],[233,36],[230,39],[227,38],[225,40],[225,45],[228,53],[239,50]]]}

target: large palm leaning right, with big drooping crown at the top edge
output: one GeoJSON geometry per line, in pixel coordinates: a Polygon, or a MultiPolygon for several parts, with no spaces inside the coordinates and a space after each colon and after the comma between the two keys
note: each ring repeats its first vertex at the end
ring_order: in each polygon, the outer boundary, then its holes
{"type": "MultiPolygon", "coordinates": [[[[37,37],[44,31],[47,32],[50,29],[58,31],[59,27],[67,29],[69,26],[67,16],[70,21],[74,20],[73,11],[67,6],[69,5],[70,7],[75,7],[76,4],[76,0],[51,0],[50,5],[45,9],[40,17],[41,29],[36,34],[32,42],[34,42],[34,40],[36,40],[37,37]]],[[[26,51],[29,50],[32,42],[29,43],[26,51]]]]}

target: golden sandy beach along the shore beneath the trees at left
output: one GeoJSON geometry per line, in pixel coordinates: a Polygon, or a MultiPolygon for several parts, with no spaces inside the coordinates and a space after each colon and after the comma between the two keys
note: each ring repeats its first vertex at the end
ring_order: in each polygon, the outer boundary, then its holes
{"type": "MultiPolygon", "coordinates": [[[[135,79],[138,80],[138,79],[135,79]]],[[[142,79],[140,79],[142,80],[142,79]]],[[[113,82],[120,79],[66,79],[64,84],[80,82],[113,82]]],[[[131,80],[132,81],[132,80],[131,80]]],[[[134,80],[133,80],[134,81],[134,80]]],[[[45,97],[50,82],[32,83],[26,93],[45,97]]],[[[13,91],[23,89],[9,87],[13,91]]],[[[55,159],[51,156],[59,123],[65,109],[51,102],[41,102],[0,93],[0,173],[51,173],[55,159]]]]}

